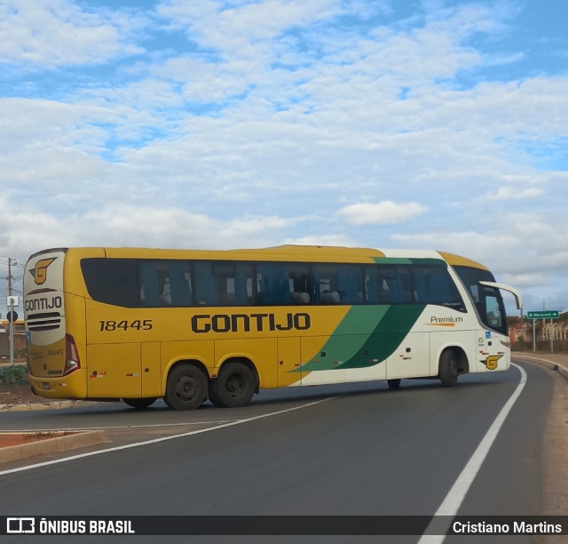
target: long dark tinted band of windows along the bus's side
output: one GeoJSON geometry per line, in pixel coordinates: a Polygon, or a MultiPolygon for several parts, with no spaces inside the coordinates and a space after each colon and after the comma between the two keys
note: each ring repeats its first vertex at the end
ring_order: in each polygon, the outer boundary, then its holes
{"type": "MultiPolygon", "coordinates": [[[[466,311],[447,268],[430,263],[84,259],[82,268],[94,300],[127,308],[436,304],[466,311]]],[[[467,277],[469,292],[487,321],[474,280],[467,277]]]]}

